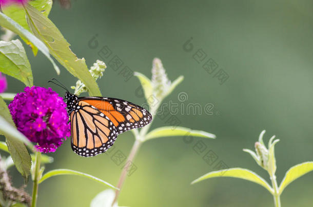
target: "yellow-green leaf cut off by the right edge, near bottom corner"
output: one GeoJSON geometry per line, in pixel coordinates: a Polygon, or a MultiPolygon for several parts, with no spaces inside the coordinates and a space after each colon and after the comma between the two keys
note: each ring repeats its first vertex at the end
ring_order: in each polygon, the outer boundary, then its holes
{"type": "Polygon", "coordinates": [[[291,167],[285,174],[283,181],[279,187],[279,194],[282,194],[284,189],[289,185],[290,182],[298,179],[302,175],[305,175],[308,172],[313,171],[313,162],[306,162],[291,167]]]}

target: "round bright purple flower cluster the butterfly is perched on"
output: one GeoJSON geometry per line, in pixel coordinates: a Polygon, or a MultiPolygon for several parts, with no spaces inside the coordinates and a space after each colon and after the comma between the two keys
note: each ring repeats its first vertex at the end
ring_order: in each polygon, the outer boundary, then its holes
{"type": "Polygon", "coordinates": [[[66,104],[51,88],[25,87],[10,103],[13,121],[41,152],[54,152],[70,136],[66,104]]]}

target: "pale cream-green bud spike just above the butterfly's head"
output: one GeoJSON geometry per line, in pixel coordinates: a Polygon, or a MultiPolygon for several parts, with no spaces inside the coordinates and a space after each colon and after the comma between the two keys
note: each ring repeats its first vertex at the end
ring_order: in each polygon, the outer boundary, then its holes
{"type": "MultiPolygon", "coordinates": [[[[101,78],[103,76],[103,72],[105,71],[105,68],[107,68],[106,64],[101,60],[96,60],[95,63],[90,67],[90,74],[94,78],[94,80],[97,80],[98,78],[101,78]]],[[[86,85],[81,81],[78,80],[76,82],[76,86],[72,86],[72,89],[75,89],[74,94],[80,95],[81,93],[87,92],[88,89],[86,85]]]]}

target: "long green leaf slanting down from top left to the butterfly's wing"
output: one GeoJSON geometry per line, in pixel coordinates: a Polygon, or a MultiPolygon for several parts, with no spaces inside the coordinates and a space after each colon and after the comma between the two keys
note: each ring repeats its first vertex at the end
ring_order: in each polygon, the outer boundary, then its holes
{"type": "Polygon", "coordinates": [[[47,45],[51,55],[86,85],[90,96],[101,96],[100,89],[91,76],[85,59],[76,57],[69,48],[70,44],[53,22],[30,5],[25,6],[25,11],[31,31],[47,45]]]}

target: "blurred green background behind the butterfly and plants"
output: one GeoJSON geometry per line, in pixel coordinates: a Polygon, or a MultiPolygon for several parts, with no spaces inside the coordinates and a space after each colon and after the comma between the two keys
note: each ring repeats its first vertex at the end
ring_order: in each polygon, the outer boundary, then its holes
{"type": "MultiPolygon", "coordinates": [[[[182,137],[155,139],[144,143],[134,164],[138,168],[127,178],[119,204],[126,206],[273,206],[272,196],[261,186],[244,180],[215,178],[190,185],[190,182],[214,170],[203,156],[208,150],[218,155],[229,168],[251,169],[267,181],[261,169],[243,148],[254,148],[259,133],[266,129],[265,140],[273,134],[281,141],[276,147],[277,177],[280,182],[288,168],[312,160],[313,87],[313,3],[311,1],[73,1],[63,9],[55,2],[50,18],[71,44],[72,51],[91,66],[105,45],[132,71],[151,77],[154,57],[163,61],[168,76],[185,80],[165,100],[178,101],[184,92],[188,100],[214,105],[212,115],[180,111],[181,126],[217,135],[216,140],[195,138],[186,144],[182,137]],[[88,47],[97,34],[96,49],[88,47]],[[193,50],[183,44],[192,37],[193,50]],[[202,49],[229,76],[220,84],[208,74],[193,54],[202,49]],[[203,141],[205,152],[194,145],[203,141]]],[[[38,53],[27,49],[34,84],[56,77],[52,65],[38,53]]],[[[102,59],[106,63],[111,59],[102,59]]],[[[120,69],[121,70],[121,69],[120,69]]],[[[58,80],[70,87],[76,79],[64,68],[58,80]]],[[[136,95],[140,86],[133,77],[124,81],[119,71],[108,67],[99,86],[104,96],[145,103],[136,95]]],[[[8,77],[10,93],[24,85],[8,77]]],[[[151,129],[165,126],[159,118],[151,129]]],[[[134,138],[131,132],[119,135],[115,150],[128,155],[134,138]]],[[[66,141],[55,153],[54,163],[46,170],[68,168],[100,177],[116,185],[122,164],[117,166],[111,154],[91,158],[77,156],[66,141]]],[[[16,186],[22,178],[11,169],[16,186]]],[[[311,206],[312,176],[308,174],[282,194],[283,206],[311,206]]],[[[104,188],[99,183],[75,176],[53,177],[40,185],[38,206],[89,206],[104,188]]],[[[31,193],[31,183],[28,185],[31,193]]]]}

